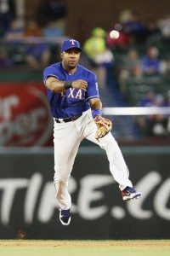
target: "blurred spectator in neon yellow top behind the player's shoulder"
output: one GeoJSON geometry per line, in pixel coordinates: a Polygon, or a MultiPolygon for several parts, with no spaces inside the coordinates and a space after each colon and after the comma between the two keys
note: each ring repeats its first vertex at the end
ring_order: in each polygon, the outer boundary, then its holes
{"type": "Polygon", "coordinates": [[[88,38],[83,49],[91,65],[94,73],[99,79],[99,85],[105,85],[107,68],[113,64],[113,54],[106,46],[106,32],[100,27],[94,28],[92,36],[88,38]]]}

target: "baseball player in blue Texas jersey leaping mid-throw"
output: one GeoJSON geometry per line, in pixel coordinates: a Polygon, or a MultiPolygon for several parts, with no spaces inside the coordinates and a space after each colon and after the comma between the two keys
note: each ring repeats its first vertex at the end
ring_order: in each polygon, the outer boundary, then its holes
{"type": "Polygon", "coordinates": [[[78,64],[81,51],[77,40],[65,40],[61,45],[61,61],[46,67],[43,72],[54,118],[54,186],[63,225],[71,222],[68,181],[84,138],[105,149],[122,200],[141,197],[141,193],[133,189],[122,152],[111,135],[111,120],[102,117],[98,80],[94,73],[78,64]]]}

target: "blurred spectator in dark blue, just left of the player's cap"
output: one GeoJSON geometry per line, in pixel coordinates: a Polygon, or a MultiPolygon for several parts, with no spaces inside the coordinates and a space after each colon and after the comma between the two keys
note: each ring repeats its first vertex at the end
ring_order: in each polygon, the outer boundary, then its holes
{"type": "Polygon", "coordinates": [[[26,63],[34,70],[47,67],[51,58],[48,46],[40,43],[37,38],[31,38],[28,43],[25,49],[26,63]]]}

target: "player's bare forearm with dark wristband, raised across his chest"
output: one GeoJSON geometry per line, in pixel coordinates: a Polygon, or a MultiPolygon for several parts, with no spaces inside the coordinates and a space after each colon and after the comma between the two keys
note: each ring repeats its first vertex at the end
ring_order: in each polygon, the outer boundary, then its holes
{"type": "Polygon", "coordinates": [[[70,81],[59,81],[54,77],[48,77],[48,79],[46,80],[46,86],[48,87],[49,90],[53,91],[54,93],[59,93],[70,88],[87,90],[88,83],[82,79],[70,82],[70,81]]]}

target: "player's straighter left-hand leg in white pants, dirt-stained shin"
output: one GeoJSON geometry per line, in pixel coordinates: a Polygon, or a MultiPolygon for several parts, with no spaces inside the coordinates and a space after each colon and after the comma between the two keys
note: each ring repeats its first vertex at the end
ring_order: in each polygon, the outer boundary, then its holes
{"type": "Polygon", "coordinates": [[[62,210],[71,207],[68,181],[79,144],[80,140],[73,122],[54,123],[54,186],[56,199],[62,210]]]}

